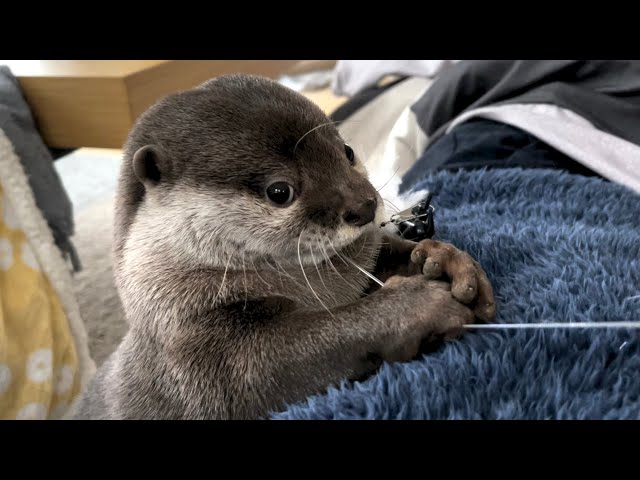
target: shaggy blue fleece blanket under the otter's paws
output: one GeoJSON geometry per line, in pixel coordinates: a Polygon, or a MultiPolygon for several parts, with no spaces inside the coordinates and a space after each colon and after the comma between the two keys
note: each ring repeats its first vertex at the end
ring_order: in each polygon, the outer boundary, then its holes
{"type": "MultiPolygon", "coordinates": [[[[436,238],[484,266],[497,322],[640,321],[640,196],[546,169],[439,172],[436,238]]],[[[477,331],[275,419],[639,419],[639,330],[477,331]]]]}

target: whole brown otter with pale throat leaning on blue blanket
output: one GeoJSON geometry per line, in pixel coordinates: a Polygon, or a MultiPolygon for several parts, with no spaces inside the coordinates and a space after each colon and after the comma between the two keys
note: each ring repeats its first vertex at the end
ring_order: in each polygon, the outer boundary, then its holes
{"type": "Polygon", "coordinates": [[[75,418],[265,418],[494,317],[471,256],[384,220],[362,159],[303,95],[238,74],[161,99],[117,187],[129,331],[75,418]]]}

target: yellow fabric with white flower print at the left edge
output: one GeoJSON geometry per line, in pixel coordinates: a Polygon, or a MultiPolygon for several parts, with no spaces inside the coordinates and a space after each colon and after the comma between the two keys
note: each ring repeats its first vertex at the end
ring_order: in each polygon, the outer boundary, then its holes
{"type": "Polygon", "coordinates": [[[61,418],[78,370],[62,303],[0,186],[0,419],[61,418]]]}

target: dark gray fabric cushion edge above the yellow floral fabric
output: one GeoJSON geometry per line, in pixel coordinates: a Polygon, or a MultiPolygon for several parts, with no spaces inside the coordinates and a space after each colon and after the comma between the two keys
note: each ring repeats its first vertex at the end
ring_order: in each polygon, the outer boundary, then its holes
{"type": "Polygon", "coordinates": [[[80,269],[70,237],[73,235],[73,210],[60,181],[51,153],[37,130],[31,109],[18,81],[8,67],[0,65],[0,129],[4,131],[22,163],[36,204],[46,219],[56,245],[80,269]]]}

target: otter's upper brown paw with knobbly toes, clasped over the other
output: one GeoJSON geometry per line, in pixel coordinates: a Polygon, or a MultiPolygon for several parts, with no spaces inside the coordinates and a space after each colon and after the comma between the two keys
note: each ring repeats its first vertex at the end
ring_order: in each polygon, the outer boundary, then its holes
{"type": "Polygon", "coordinates": [[[486,273],[471,256],[451,244],[423,240],[411,252],[411,261],[422,268],[429,279],[448,277],[451,294],[465,305],[473,305],[474,314],[489,322],[495,318],[493,287],[486,273]]]}

